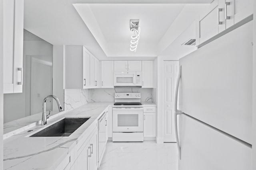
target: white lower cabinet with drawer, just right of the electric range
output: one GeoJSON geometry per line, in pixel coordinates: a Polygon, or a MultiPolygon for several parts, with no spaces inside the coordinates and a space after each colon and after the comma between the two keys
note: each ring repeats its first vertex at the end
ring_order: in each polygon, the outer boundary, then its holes
{"type": "Polygon", "coordinates": [[[144,137],[156,137],[156,107],[144,107],[144,137]]]}

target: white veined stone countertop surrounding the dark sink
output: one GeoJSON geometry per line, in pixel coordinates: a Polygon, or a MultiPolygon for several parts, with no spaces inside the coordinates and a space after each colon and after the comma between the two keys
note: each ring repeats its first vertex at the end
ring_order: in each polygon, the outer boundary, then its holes
{"type": "Polygon", "coordinates": [[[37,123],[25,131],[4,139],[4,170],[54,170],[84,137],[88,127],[112,104],[112,102],[88,103],[72,111],[50,117],[47,119],[47,125],[37,123]],[[69,137],[28,137],[64,117],[90,117],[90,119],[69,137]]]}

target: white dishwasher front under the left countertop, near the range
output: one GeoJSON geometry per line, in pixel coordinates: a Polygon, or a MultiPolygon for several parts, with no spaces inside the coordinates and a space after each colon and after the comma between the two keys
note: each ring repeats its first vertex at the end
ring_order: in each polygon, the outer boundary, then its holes
{"type": "Polygon", "coordinates": [[[108,111],[105,111],[103,115],[98,119],[98,166],[100,166],[100,162],[102,160],[102,157],[104,155],[104,151],[106,149],[106,134],[108,133],[106,131],[107,127],[107,115],[108,111]]]}

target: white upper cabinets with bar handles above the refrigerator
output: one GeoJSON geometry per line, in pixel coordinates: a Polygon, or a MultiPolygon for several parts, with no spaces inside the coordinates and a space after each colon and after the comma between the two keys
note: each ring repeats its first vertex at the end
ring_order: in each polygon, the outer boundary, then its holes
{"type": "Polygon", "coordinates": [[[196,45],[200,45],[253,14],[253,0],[214,0],[199,16],[196,45]]]}

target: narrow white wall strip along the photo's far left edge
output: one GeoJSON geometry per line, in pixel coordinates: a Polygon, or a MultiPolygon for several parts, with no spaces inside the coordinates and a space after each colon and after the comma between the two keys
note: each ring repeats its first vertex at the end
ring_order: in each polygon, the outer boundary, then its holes
{"type": "Polygon", "coordinates": [[[3,169],[3,0],[0,0],[0,170],[3,169]]]}

